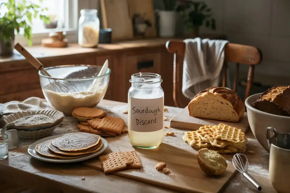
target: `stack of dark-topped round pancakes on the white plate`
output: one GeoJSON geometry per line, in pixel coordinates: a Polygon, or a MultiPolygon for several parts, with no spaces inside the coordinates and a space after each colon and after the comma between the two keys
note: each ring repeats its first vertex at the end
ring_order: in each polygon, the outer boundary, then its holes
{"type": "Polygon", "coordinates": [[[69,133],[62,137],[50,139],[38,144],[35,151],[40,155],[59,158],[75,159],[98,152],[103,146],[99,135],[90,133],[69,133]]]}

